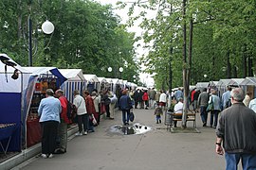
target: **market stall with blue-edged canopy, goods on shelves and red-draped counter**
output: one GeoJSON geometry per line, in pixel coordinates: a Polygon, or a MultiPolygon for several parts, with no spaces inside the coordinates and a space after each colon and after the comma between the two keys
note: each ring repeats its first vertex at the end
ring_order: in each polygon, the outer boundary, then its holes
{"type": "Polygon", "coordinates": [[[41,126],[38,117],[38,107],[43,98],[46,98],[46,89],[56,91],[64,83],[66,78],[56,67],[25,67],[30,71],[34,83],[27,91],[26,128],[25,134],[26,147],[41,142],[41,126]]]}

